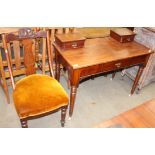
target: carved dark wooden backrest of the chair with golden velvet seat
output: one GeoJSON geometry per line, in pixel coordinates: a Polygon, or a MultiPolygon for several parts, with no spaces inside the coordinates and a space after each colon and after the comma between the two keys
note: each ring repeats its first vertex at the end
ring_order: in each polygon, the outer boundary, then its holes
{"type": "Polygon", "coordinates": [[[49,57],[49,68],[50,73],[54,77],[52,68],[52,53],[49,39],[49,31],[38,31],[34,32],[31,28],[19,29],[18,34],[2,34],[3,46],[5,50],[5,56],[7,60],[8,70],[11,78],[13,89],[15,89],[15,83],[13,79],[13,68],[16,67],[18,70],[21,65],[25,66],[26,75],[36,73],[35,68],[35,52],[33,50],[33,40],[37,38],[44,38],[47,44],[47,53],[49,57]],[[14,64],[12,64],[12,57],[10,52],[13,51],[14,64]],[[22,52],[21,52],[22,51],[22,52]],[[23,53],[23,54],[21,54],[23,53]],[[21,59],[23,57],[23,59],[21,59]]]}

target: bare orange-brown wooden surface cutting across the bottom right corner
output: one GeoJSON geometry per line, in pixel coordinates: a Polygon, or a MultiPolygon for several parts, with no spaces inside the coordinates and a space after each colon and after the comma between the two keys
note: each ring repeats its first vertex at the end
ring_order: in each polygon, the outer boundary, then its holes
{"type": "Polygon", "coordinates": [[[110,120],[104,121],[96,128],[154,128],[155,127],[155,99],[124,112],[110,120]]]}

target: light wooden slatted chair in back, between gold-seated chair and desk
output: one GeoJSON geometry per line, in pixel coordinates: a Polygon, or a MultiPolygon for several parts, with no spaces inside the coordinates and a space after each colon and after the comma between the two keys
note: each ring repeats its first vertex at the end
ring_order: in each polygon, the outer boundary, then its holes
{"type": "MultiPolygon", "coordinates": [[[[55,42],[55,34],[68,34],[68,33],[76,33],[76,28],[73,27],[50,27],[50,28],[37,28],[36,31],[39,30],[49,30],[49,38],[50,38],[50,46],[52,50],[52,57],[55,59],[55,53],[53,50],[52,44],[55,42]]],[[[38,38],[36,40],[37,45],[35,46],[37,49],[36,51],[36,62],[38,68],[42,71],[43,74],[45,74],[47,71],[49,71],[49,65],[48,65],[48,54],[47,54],[47,45],[46,45],[46,40],[44,38],[38,38]]],[[[61,74],[64,76],[64,78],[67,81],[68,88],[69,88],[69,80],[68,76],[66,75],[66,69],[60,66],[62,72],[61,74]]],[[[53,72],[55,72],[56,66],[55,66],[55,61],[53,61],[53,72]]]]}

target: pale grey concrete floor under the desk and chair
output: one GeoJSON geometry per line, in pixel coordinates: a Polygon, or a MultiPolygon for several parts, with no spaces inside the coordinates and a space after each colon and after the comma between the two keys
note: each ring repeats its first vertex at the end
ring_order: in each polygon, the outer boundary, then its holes
{"type": "MultiPolygon", "coordinates": [[[[79,85],[74,113],[71,120],[66,118],[66,128],[90,128],[104,120],[111,119],[141,103],[155,97],[155,83],[144,87],[140,94],[129,96],[133,81],[128,77],[121,80],[118,72],[114,80],[111,74],[88,79],[79,85]]],[[[61,84],[69,94],[66,80],[62,76],[61,84]]],[[[11,87],[9,87],[11,96],[11,87]]],[[[60,128],[60,111],[46,117],[28,121],[31,128],[60,128]]],[[[12,99],[7,104],[4,93],[0,88],[0,127],[20,128],[12,99]]]]}

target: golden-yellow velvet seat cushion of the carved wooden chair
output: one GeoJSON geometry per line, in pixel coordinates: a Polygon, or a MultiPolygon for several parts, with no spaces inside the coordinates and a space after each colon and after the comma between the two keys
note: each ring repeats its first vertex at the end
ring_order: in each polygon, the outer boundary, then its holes
{"type": "Polygon", "coordinates": [[[21,119],[68,105],[68,96],[59,82],[48,75],[40,74],[19,80],[13,91],[13,100],[21,119]]]}

